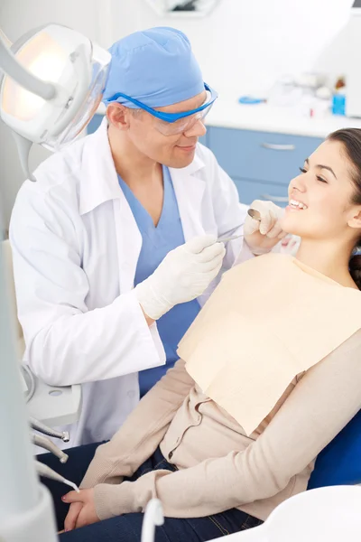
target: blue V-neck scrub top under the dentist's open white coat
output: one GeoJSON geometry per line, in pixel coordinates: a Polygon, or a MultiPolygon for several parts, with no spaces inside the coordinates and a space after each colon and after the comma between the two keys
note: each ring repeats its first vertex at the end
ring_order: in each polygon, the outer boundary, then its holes
{"type": "MultiPolygon", "coordinates": [[[[125,194],[126,201],[129,203],[143,238],[142,250],[135,271],[134,285],[143,282],[145,278],[152,275],[168,252],[184,243],[180,211],[171,182],[171,173],[165,166],[163,166],[162,171],[164,184],[163,207],[161,218],[156,227],[148,211],[143,208],[143,205],[136,199],[129,186],[118,175],[120,187],[125,194]]],[[[176,350],[180,339],[196,318],[199,310],[198,301],[193,300],[175,305],[171,311],[164,314],[157,321],[158,332],[165,350],[166,365],[143,370],[139,373],[141,397],[178,360],[176,350]]]]}

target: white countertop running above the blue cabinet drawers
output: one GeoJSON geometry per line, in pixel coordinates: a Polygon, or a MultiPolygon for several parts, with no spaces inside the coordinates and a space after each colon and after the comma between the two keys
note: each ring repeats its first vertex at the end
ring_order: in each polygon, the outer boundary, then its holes
{"type": "Polygon", "coordinates": [[[324,138],[339,128],[361,128],[361,118],[330,114],[327,117],[302,117],[300,112],[290,107],[242,105],[236,100],[218,98],[208,114],[206,125],[324,138]]]}

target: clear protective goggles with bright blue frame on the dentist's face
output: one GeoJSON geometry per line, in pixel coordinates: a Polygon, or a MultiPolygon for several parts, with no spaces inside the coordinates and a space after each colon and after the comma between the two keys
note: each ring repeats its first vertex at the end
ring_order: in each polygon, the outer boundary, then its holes
{"type": "Polygon", "coordinates": [[[153,107],[148,107],[137,99],[131,98],[123,94],[122,92],[117,92],[112,98],[108,99],[108,102],[116,101],[118,98],[125,98],[130,101],[134,106],[143,109],[153,117],[157,119],[155,127],[163,135],[176,135],[182,134],[190,130],[199,120],[203,120],[207,117],[210,109],[212,108],[214,102],[218,98],[218,93],[216,90],[208,87],[204,83],[204,89],[207,92],[207,98],[200,107],[197,109],[191,109],[190,111],[184,111],[182,113],[164,113],[162,111],[157,111],[153,107]]]}

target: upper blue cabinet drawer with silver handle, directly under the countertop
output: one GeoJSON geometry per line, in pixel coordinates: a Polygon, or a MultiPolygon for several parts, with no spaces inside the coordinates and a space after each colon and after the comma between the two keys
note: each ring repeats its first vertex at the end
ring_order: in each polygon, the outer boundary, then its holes
{"type": "Polygon", "coordinates": [[[208,127],[208,146],[232,178],[288,185],[322,143],[318,137],[208,127]]]}

